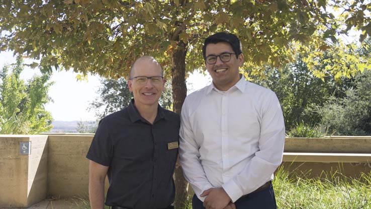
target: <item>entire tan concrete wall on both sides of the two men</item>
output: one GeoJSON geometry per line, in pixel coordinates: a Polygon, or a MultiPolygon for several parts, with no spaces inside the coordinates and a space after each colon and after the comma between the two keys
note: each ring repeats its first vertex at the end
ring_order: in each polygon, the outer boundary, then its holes
{"type": "MultiPolygon", "coordinates": [[[[92,137],[92,134],[69,133],[0,135],[0,207],[26,207],[46,196],[86,198],[88,160],[85,156],[92,137]],[[31,142],[31,155],[18,154],[21,141],[31,142]]],[[[358,176],[361,172],[371,172],[369,163],[371,137],[286,138],[282,166],[306,177],[336,170],[346,176],[358,176]],[[336,156],[339,153],[341,158],[336,156]]]]}

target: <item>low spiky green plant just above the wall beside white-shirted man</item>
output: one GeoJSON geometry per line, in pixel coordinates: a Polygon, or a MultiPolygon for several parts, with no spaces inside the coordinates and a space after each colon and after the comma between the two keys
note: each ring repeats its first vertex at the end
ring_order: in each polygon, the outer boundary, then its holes
{"type": "Polygon", "coordinates": [[[289,137],[309,137],[309,138],[321,138],[326,134],[322,132],[320,127],[311,127],[305,124],[303,121],[297,123],[287,132],[289,137]]]}

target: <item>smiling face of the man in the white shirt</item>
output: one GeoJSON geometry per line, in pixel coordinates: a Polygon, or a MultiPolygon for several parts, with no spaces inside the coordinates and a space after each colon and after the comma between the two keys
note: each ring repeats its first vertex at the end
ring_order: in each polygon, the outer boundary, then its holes
{"type": "MultiPolygon", "coordinates": [[[[227,42],[209,43],[205,51],[206,57],[209,55],[218,56],[222,53],[235,53],[227,42]]],[[[215,87],[221,91],[227,91],[240,80],[238,68],[242,63],[243,54],[238,55],[238,57],[236,57],[236,54],[231,54],[231,60],[227,62],[222,62],[220,57],[217,57],[215,64],[208,64],[205,61],[215,87]]]]}

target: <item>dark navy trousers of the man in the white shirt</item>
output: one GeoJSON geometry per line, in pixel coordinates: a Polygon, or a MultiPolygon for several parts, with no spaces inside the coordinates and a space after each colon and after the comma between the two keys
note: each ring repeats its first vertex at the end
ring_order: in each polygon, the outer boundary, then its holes
{"type": "MultiPolygon", "coordinates": [[[[205,209],[202,204],[203,202],[195,194],[192,199],[192,208],[205,209]]],[[[277,209],[272,186],[259,192],[244,195],[234,204],[236,209],[277,209]]]]}

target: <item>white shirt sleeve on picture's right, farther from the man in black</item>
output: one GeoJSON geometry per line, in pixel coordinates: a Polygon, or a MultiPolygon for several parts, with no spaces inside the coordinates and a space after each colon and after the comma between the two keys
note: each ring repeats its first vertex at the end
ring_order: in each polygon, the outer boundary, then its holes
{"type": "Polygon", "coordinates": [[[223,185],[232,202],[269,181],[282,162],[285,122],[280,102],[271,94],[261,107],[259,151],[238,175],[223,185]]]}

